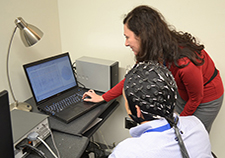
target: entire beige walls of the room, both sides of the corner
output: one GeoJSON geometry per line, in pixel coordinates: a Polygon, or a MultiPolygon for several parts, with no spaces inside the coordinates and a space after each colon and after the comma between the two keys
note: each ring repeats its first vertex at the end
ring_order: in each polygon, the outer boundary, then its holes
{"type": "MultiPolygon", "coordinates": [[[[8,43],[15,27],[14,20],[18,16],[44,32],[43,39],[30,48],[23,46],[19,32],[15,35],[10,54],[10,75],[19,101],[31,97],[22,65],[65,51],[70,52],[72,61],[83,55],[118,60],[122,79],[126,67],[134,63],[133,53],[124,46],[122,20],[124,14],[139,4],[148,4],[159,9],[167,21],[178,30],[189,31],[199,37],[225,80],[223,0],[1,0],[0,89],[9,89],[5,60],[8,43]]],[[[10,100],[12,101],[11,96],[10,100]]],[[[129,137],[128,130],[124,129],[124,101],[121,97],[119,101],[121,106],[95,134],[95,139],[117,144],[129,137]]],[[[224,117],[225,108],[222,107],[210,134],[212,150],[218,157],[225,157],[224,117]]]]}

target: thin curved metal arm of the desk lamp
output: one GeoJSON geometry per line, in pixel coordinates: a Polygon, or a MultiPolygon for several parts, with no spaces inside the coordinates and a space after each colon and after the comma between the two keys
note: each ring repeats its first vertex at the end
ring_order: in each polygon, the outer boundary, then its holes
{"type": "Polygon", "coordinates": [[[12,94],[12,97],[13,97],[14,102],[16,102],[16,105],[18,105],[18,101],[16,100],[16,98],[15,98],[15,96],[14,96],[14,93],[13,93],[13,90],[12,90],[12,85],[11,85],[11,82],[10,82],[10,77],[9,77],[9,53],[10,53],[10,48],[11,48],[11,45],[12,45],[13,37],[14,37],[14,35],[15,35],[15,33],[16,33],[17,28],[18,28],[18,26],[16,26],[16,27],[14,28],[12,37],[11,37],[11,39],[10,39],[9,47],[8,47],[8,52],[7,52],[7,59],[6,59],[6,73],[7,73],[7,80],[8,80],[10,92],[11,92],[11,94],[12,94]]]}

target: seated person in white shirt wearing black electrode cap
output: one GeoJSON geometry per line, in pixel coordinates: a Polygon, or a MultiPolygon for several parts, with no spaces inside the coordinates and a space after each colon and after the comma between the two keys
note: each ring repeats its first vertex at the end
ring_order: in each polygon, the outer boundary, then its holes
{"type": "Polygon", "coordinates": [[[212,158],[208,133],[195,116],[174,113],[177,85],[164,66],[138,63],[125,77],[128,115],[138,126],[109,158],[212,158]]]}

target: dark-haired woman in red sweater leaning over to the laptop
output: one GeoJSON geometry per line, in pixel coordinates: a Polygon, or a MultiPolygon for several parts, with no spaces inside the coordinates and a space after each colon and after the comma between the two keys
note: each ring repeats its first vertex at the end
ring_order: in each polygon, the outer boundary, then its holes
{"type": "MultiPolygon", "coordinates": [[[[148,6],[138,6],[124,21],[125,45],[137,62],[157,61],[172,72],[180,94],[175,110],[181,116],[195,115],[210,132],[223,101],[223,83],[219,71],[195,37],[178,32],[164,17],[148,6]]],[[[124,80],[99,96],[93,90],[86,101],[110,101],[122,94],[124,80]]]]}

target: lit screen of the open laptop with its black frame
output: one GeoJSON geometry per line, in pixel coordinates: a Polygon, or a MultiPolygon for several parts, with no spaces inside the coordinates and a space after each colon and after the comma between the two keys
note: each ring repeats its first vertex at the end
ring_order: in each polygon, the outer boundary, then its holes
{"type": "Polygon", "coordinates": [[[77,86],[68,53],[24,65],[36,102],[77,86]]]}

